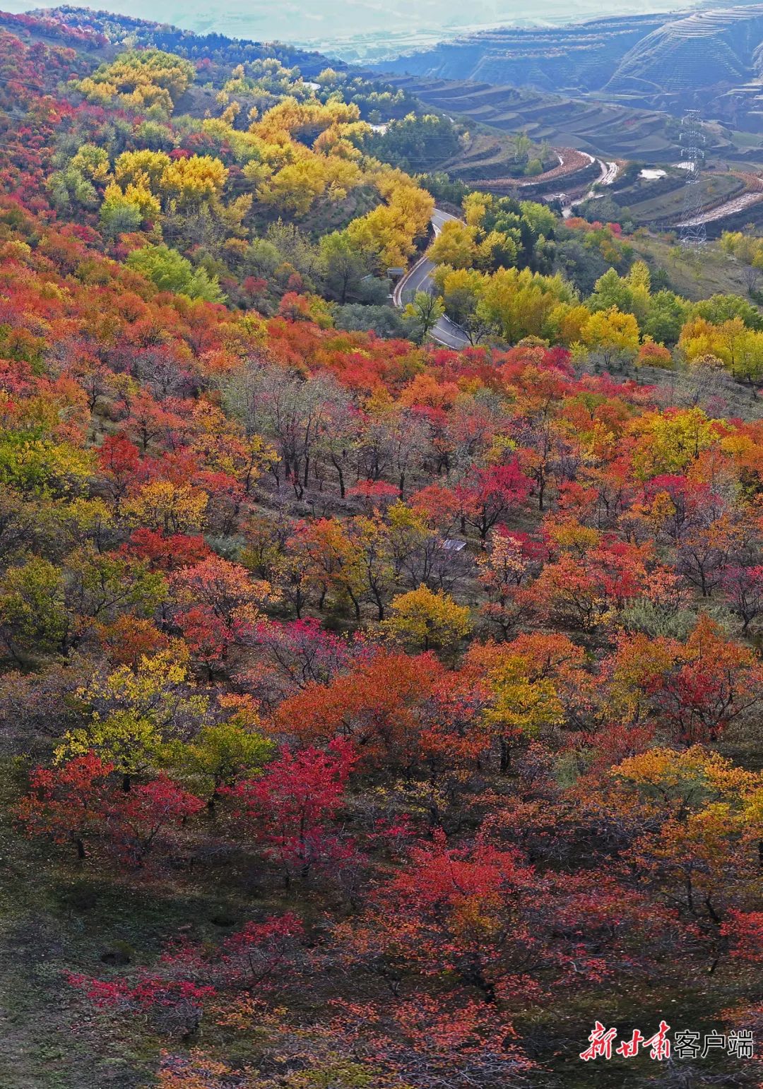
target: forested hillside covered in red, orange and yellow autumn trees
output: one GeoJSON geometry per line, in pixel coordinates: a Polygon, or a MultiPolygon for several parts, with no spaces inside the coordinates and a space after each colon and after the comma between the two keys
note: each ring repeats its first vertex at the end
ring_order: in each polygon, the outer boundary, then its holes
{"type": "Polygon", "coordinates": [[[755,276],[63,14],[0,20],[0,1085],[760,1085],[755,276]]]}

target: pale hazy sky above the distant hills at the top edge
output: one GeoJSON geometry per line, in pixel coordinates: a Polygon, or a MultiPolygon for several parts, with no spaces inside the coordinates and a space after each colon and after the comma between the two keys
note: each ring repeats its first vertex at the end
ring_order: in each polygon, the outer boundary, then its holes
{"type": "MultiPolygon", "coordinates": [[[[737,0],[738,2],[738,0],[737,0]]],[[[351,59],[368,50],[398,52],[476,27],[568,22],[605,14],[675,11],[692,0],[92,0],[90,7],[190,30],[255,40],[310,44],[351,59]],[[371,47],[371,48],[368,48],[371,47]]],[[[5,11],[55,3],[0,0],[5,11]]]]}

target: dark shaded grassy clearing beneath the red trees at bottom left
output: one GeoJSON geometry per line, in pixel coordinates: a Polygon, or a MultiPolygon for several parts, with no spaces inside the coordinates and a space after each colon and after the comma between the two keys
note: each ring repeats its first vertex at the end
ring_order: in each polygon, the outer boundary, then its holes
{"type": "Polygon", "coordinates": [[[294,904],[263,896],[256,874],[234,861],[198,878],[165,870],[150,879],[113,862],[77,864],[65,846],[20,834],[8,763],[0,771],[0,1086],[144,1089],[162,1041],[140,1019],[94,1010],[66,974],[116,979],[152,965],[179,933],[218,943],[294,904]],[[114,966],[116,955],[130,968],[114,966]]]}

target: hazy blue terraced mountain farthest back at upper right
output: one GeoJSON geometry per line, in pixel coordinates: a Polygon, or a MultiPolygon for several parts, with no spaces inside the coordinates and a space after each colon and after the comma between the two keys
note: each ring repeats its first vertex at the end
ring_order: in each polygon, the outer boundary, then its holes
{"type": "Polygon", "coordinates": [[[763,3],[507,27],[388,62],[389,72],[602,97],[763,131],[763,3]]]}

